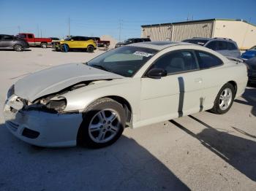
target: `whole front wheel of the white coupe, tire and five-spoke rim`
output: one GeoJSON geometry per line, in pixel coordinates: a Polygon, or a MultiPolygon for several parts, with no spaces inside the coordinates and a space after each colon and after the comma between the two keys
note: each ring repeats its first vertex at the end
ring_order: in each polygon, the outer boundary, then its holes
{"type": "Polygon", "coordinates": [[[126,115],[121,104],[110,98],[94,101],[83,114],[78,144],[102,148],[116,142],[124,131],[126,115]],[[105,117],[104,117],[105,116],[105,117]]]}

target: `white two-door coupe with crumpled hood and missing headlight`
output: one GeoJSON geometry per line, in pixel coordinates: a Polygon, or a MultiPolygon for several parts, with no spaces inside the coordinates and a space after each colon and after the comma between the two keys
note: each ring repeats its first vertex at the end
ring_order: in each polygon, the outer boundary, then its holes
{"type": "Polygon", "coordinates": [[[195,44],[144,42],[56,66],[10,87],[7,128],[41,147],[105,147],[138,128],[211,109],[244,93],[244,63],[195,44]]]}

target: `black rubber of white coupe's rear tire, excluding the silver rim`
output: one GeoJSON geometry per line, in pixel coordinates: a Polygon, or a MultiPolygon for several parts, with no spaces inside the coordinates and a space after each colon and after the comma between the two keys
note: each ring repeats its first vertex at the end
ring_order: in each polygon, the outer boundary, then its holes
{"type": "Polygon", "coordinates": [[[218,95],[217,95],[217,97],[214,101],[213,112],[217,113],[217,114],[227,113],[230,110],[231,106],[233,105],[234,98],[235,98],[235,89],[234,89],[233,85],[231,85],[230,83],[227,83],[227,84],[223,85],[222,89],[219,90],[219,93],[218,93],[218,95]],[[230,88],[230,90],[232,92],[232,100],[231,100],[230,106],[228,106],[227,109],[222,110],[222,109],[219,108],[219,96],[225,88],[230,88]]]}

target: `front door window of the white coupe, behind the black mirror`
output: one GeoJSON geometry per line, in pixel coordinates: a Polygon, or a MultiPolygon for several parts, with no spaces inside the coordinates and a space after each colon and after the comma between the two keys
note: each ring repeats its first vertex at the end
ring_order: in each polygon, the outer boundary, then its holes
{"type": "Polygon", "coordinates": [[[162,55],[151,68],[165,69],[167,74],[176,74],[198,69],[195,54],[191,50],[176,50],[162,55]]]}

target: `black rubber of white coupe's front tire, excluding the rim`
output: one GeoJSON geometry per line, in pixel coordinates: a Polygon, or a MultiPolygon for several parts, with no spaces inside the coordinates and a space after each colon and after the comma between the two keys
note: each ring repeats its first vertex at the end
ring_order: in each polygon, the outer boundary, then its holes
{"type": "Polygon", "coordinates": [[[116,142],[124,131],[125,122],[126,122],[124,109],[121,106],[121,104],[110,99],[98,101],[98,103],[92,104],[92,105],[93,106],[87,109],[86,112],[83,114],[83,122],[81,123],[80,128],[78,130],[78,144],[82,145],[83,147],[90,147],[90,148],[107,147],[110,144],[113,144],[114,142],[116,142]],[[116,136],[113,137],[113,139],[105,143],[96,143],[93,140],[91,140],[89,136],[89,124],[91,122],[91,118],[94,117],[94,115],[97,114],[97,112],[101,111],[102,109],[115,110],[120,116],[120,120],[121,120],[120,127],[118,129],[118,133],[116,134],[116,136]]]}

